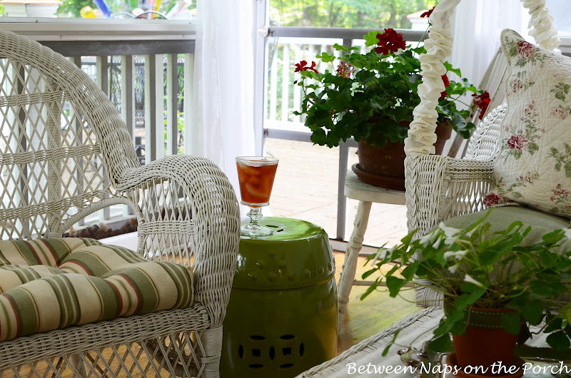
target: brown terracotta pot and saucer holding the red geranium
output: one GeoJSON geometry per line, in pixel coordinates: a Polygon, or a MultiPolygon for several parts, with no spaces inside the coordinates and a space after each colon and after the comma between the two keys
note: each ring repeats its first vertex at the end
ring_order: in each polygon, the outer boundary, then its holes
{"type": "MultiPolygon", "coordinates": [[[[440,155],[452,134],[450,126],[438,124],[436,128],[436,154],[440,155]]],[[[358,143],[359,163],[351,167],[363,183],[381,188],[405,190],[405,145],[387,143],[384,147],[358,143]]]]}

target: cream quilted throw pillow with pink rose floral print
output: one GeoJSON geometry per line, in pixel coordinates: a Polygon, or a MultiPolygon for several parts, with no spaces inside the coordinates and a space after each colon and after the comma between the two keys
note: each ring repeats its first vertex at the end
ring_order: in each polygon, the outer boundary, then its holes
{"type": "Polygon", "coordinates": [[[510,76],[488,206],[526,205],[571,218],[571,58],[502,32],[510,76]]]}

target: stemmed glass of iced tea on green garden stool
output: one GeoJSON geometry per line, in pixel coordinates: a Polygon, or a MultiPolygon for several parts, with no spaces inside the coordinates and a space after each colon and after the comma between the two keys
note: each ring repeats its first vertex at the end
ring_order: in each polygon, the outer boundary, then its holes
{"type": "Polygon", "coordinates": [[[270,204],[273,178],[276,177],[278,159],[261,156],[239,156],[236,158],[241,203],[250,207],[250,223],[241,228],[241,235],[268,236],[273,231],[260,224],[262,206],[270,204]]]}

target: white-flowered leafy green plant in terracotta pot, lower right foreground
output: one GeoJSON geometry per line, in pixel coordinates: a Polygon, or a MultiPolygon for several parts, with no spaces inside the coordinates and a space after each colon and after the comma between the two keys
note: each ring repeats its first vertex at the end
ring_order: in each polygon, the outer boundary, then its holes
{"type": "Polygon", "coordinates": [[[391,297],[413,290],[405,287],[413,277],[433,282],[443,295],[445,316],[428,345],[444,352],[453,342],[460,367],[489,371],[498,361],[514,364],[518,337],[521,342],[530,336],[528,324],[541,325],[553,349],[569,349],[571,251],[563,252],[560,244],[571,238],[571,229],[547,233],[541,242],[526,245],[530,228],[523,230],[520,222],[492,235],[489,228],[485,218],[464,230],[441,224],[418,240],[413,241],[413,232],[400,245],[380,248],[370,257],[373,269],[363,278],[386,273],[363,297],[383,280],[391,297]]]}

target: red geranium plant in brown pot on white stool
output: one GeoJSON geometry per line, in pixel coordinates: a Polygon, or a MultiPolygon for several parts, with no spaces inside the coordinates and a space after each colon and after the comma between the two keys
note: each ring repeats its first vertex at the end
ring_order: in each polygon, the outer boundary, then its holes
{"type": "MultiPolygon", "coordinates": [[[[418,56],[425,53],[425,48],[406,46],[403,35],[393,29],[370,31],[364,39],[365,46],[372,46],[367,53],[358,52],[357,46],[335,44],[335,50],[340,51],[338,58],[326,52],[318,55],[321,62],[331,65],[324,73],[318,71],[315,61],[295,64],[295,72],[300,73],[296,83],[303,88],[301,109],[295,114],[306,116],[305,126],[312,131],[313,143],[333,147],[355,138],[359,142],[359,164],[353,170],[361,180],[404,190],[404,139],[413,120],[413,109],[420,103],[417,91],[422,77],[418,56]],[[395,168],[387,168],[391,165],[395,168]],[[371,180],[370,174],[380,178],[371,180]]],[[[461,77],[460,70],[448,62],[445,67],[461,77]]],[[[467,118],[477,107],[483,115],[490,103],[489,94],[467,79],[449,80],[446,73],[442,77],[443,92],[437,111],[443,126],[437,133],[443,137],[439,136],[436,153],[441,152],[452,129],[468,138],[474,125],[467,118]],[[461,108],[461,97],[466,93],[472,93],[475,102],[461,108]]]]}

